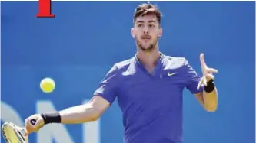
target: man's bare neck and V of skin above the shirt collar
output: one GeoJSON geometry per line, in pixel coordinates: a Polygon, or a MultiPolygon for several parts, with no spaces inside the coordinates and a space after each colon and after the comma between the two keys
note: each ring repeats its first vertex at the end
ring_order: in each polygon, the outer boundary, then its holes
{"type": "Polygon", "coordinates": [[[151,73],[154,70],[158,59],[160,58],[160,52],[158,48],[147,52],[138,50],[137,57],[148,70],[148,72],[151,73]]]}

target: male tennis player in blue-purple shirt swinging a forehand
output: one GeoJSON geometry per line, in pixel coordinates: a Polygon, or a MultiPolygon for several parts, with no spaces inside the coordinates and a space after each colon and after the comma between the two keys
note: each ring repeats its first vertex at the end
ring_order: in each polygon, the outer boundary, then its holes
{"type": "Polygon", "coordinates": [[[218,95],[213,73],[201,54],[202,77],[184,57],[160,52],[161,12],[155,5],[135,9],[134,27],[137,53],[115,63],[101,80],[91,101],[59,112],[44,112],[25,119],[28,134],[50,123],[79,124],[97,120],[117,99],[123,113],[125,143],[182,143],[182,92],[188,89],[204,109],[214,112],[218,95]],[[29,121],[36,119],[35,125],[29,121]]]}

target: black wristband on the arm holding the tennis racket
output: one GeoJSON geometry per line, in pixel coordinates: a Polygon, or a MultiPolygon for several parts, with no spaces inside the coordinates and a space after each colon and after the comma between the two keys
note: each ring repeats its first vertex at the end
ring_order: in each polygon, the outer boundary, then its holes
{"type": "Polygon", "coordinates": [[[41,116],[44,119],[45,125],[49,123],[61,122],[61,115],[59,114],[59,112],[46,112],[42,113],[41,116]]]}

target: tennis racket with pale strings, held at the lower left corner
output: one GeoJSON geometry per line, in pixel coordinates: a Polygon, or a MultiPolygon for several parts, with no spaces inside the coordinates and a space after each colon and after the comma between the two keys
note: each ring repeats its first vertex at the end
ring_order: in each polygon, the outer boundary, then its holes
{"type": "MultiPolygon", "coordinates": [[[[35,125],[36,120],[31,119],[30,123],[35,125]]],[[[28,143],[28,136],[25,136],[26,128],[19,127],[12,122],[5,122],[2,125],[2,135],[6,143],[28,143]]]]}

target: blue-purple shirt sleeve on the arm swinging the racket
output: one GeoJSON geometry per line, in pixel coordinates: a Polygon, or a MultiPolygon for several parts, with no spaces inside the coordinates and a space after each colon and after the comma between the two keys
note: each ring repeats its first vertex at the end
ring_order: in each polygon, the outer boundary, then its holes
{"type": "Polygon", "coordinates": [[[95,95],[101,96],[111,104],[115,101],[117,86],[118,67],[114,65],[105,75],[103,80],[101,80],[101,83],[99,83],[98,89],[95,91],[95,95]]]}

